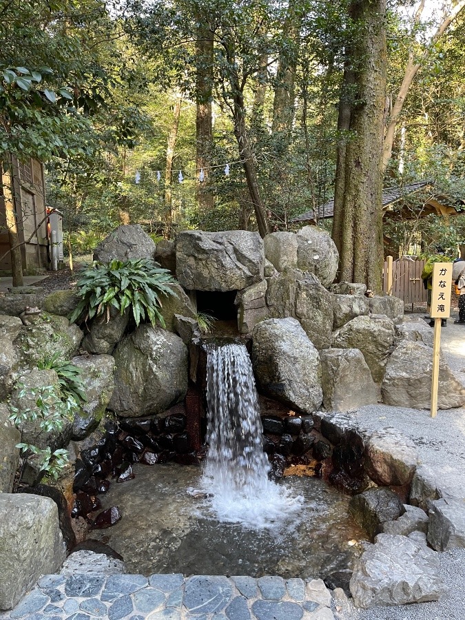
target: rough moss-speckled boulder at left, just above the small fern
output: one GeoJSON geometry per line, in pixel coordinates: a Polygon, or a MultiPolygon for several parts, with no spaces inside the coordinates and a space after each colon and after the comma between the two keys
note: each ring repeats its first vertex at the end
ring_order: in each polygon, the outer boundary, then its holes
{"type": "Polygon", "coordinates": [[[37,366],[38,362],[70,360],[76,355],[83,332],[64,316],[41,313],[37,322],[24,327],[14,344],[19,351],[22,366],[37,366]]]}

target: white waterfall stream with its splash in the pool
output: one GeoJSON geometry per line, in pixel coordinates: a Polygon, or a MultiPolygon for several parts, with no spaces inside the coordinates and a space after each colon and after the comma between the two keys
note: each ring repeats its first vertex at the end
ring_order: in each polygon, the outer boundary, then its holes
{"type": "Polygon", "coordinates": [[[219,521],[247,528],[273,527],[291,519],[302,496],[268,478],[254,372],[242,344],[210,345],[207,357],[207,442],[203,490],[219,521]]]}

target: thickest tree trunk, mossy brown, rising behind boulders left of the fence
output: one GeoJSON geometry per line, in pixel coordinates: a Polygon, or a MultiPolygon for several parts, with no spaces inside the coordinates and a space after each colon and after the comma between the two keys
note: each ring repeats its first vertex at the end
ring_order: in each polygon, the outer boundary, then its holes
{"type": "MultiPolygon", "coordinates": [[[[353,0],[360,34],[351,48],[357,101],[351,109],[352,132],[336,176],[344,190],[335,195],[335,239],[340,252],[339,278],[382,289],[382,138],[386,103],[386,0],[353,0]],[[342,185],[342,178],[340,178],[342,185]]],[[[346,110],[343,110],[346,113],[346,110]]],[[[341,123],[344,115],[341,115],[341,123]]]]}

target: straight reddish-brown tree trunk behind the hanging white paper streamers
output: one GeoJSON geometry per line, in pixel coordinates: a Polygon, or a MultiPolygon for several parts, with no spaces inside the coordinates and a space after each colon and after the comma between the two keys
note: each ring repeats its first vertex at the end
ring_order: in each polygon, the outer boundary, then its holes
{"type": "Polygon", "coordinates": [[[200,214],[214,207],[214,195],[209,180],[209,154],[213,143],[211,100],[213,87],[214,40],[209,21],[198,15],[196,42],[196,167],[203,169],[203,182],[197,181],[197,203],[200,214]]]}

